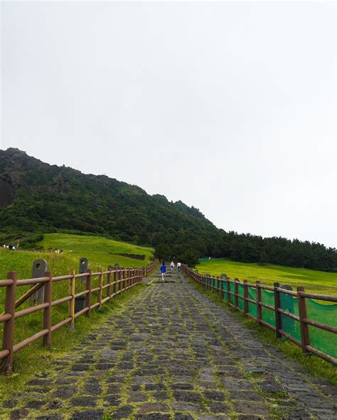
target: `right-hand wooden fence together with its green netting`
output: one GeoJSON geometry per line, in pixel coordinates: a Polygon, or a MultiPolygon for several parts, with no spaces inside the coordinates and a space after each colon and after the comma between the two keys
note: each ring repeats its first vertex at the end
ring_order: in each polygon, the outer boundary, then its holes
{"type": "Polygon", "coordinates": [[[277,282],[271,287],[260,281],[230,280],[227,275],[200,275],[186,265],[182,269],[206,291],[218,294],[259,326],[272,329],[277,338],[285,337],[301,347],[303,353],[314,353],[337,365],[337,296],[306,293],[304,287],[297,287],[294,292],[277,282]]]}

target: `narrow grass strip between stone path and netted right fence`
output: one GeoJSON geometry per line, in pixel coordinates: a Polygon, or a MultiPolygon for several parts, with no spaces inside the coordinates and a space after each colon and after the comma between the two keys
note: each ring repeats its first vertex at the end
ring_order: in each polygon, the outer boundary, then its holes
{"type": "Polygon", "coordinates": [[[272,330],[269,330],[269,328],[266,328],[264,326],[257,326],[257,323],[255,321],[253,321],[250,318],[247,318],[247,316],[244,316],[239,311],[235,311],[235,309],[232,309],[230,306],[228,306],[226,302],[222,302],[220,300],[220,297],[218,297],[218,294],[205,291],[203,287],[193,282],[185,274],[184,276],[188,280],[188,283],[193,285],[193,287],[195,287],[198,290],[198,292],[206,294],[212,302],[220,306],[224,306],[227,310],[231,311],[232,314],[235,314],[235,316],[237,316],[237,318],[239,318],[242,321],[242,324],[247,326],[247,328],[256,331],[257,335],[262,339],[262,341],[264,341],[264,343],[272,344],[272,346],[279,348],[279,350],[281,350],[282,353],[284,353],[284,355],[287,355],[287,357],[289,357],[291,360],[296,360],[297,362],[301,363],[304,369],[311,375],[315,377],[326,378],[333,385],[337,386],[336,366],[326,362],[326,360],[323,360],[317,357],[316,355],[304,355],[301,352],[301,348],[296,346],[294,343],[291,343],[291,341],[287,341],[284,338],[278,340],[275,337],[274,332],[272,330]]]}

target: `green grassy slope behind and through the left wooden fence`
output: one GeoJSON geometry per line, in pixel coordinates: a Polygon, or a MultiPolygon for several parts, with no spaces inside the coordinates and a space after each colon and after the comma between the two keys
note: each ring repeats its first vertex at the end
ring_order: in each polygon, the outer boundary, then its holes
{"type": "MultiPolygon", "coordinates": [[[[80,236],[63,233],[53,233],[45,236],[39,244],[45,250],[35,252],[29,250],[6,250],[0,248],[0,280],[7,278],[7,272],[16,271],[18,279],[31,278],[33,261],[41,258],[48,262],[48,270],[53,276],[66,275],[70,270],[75,269],[78,272],[79,260],[86,257],[89,260],[89,267],[95,272],[102,268],[107,270],[108,265],[114,265],[116,262],[121,267],[142,267],[148,265],[153,255],[152,248],[141,247],[129,243],[112,241],[107,238],[97,236],[80,236]],[[63,254],[56,254],[55,249],[63,249],[63,254]],[[70,252],[71,251],[71,252],[70,252]],[[126,258],[116,253],[128,253],[145,255],[145,260],[126,258]]],[[[106,282],[106,278],[105,278],[106,282]]],[[[77,280],[76,292],[82,289],[77,280]]],[[[98,277],[92,277],[92,287],[98,286],[98,277]]],[[[30,286],[21,286],[16,289],[16,299],[29,289],[30,286]]],[[[68,296],[68,280],[53,283],[53,300],[68,296]]],[[[103,297],[107,289],[103,292],[103,297]]],[[[0,314],[4,311],[4,297],[6,287],[0,287],[0,314]]],[[[92,304],[97,302],[97,292],[92,294],[92,304]]],[[[29,302],[24,302],[19,309],[25,309],[29,302]]],[[[52,323],[68,317],[68,302],[55,306],[52,310],[52,323]]],[[[32,336],[42,329],[43,312],[38,311],[35,314],[23,316],[16,319],[15,343],[22,341],[28,336],[32,336]]],[[[3,324],[0,324],[0,342],[2,341],[3,324]]],[[[62,329],[62,328],[61,328],[62,329]]],[[[40,343],[38,341],[37,343],[40,343]]],[[[39,346],[40,344],[38,344],[39,346]]],[[[34,345],[33,345],[34,346],[34,345]]],[[[18,352],[20,354],[21,352],[18,352]]]]}

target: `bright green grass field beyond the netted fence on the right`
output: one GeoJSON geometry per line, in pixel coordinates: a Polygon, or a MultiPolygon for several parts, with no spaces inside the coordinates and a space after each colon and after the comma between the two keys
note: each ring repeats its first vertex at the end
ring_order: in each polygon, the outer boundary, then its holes
{"type": "Polygon", "coordinates": [[[257,265],[245,262],[230,261],[225,258],[201,260],[196,266],[201,274],[220,276],[227,274],[230,279],[272,285],[279,282],[281,285],[289,284],[291,287],[303,286],[306,292],[320,294],[337,294],[337,273],[306,270],[306,268],[283,267],[281,265],[257,265]]]}

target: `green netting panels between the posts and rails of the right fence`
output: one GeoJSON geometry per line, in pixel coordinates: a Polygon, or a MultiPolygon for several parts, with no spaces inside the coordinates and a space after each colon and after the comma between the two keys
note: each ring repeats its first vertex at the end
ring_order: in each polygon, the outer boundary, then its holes
{"type": "MultiPolygon", "coordinates": [[[[210,284],[213,287],[219,287],[219,280],[215,278],[210,279],[210,284]]],[[[223,287],[223,299],[227,298],[227,282],[222,282],[223,287]]],[[[235,284],[230,282],[230,292],[235,292],[235,284]]],[[[238,284],[238,294],[243,297],[244,286],[238,284]]],[[[274,292],[264,290],[261,291],[262,302],[274,306],[274,292]]],[[[256,300],[256,289],[255,287],[248,287],[248,297],[252,300],[256,300]]],[[[280,294],[281,308],[289,313],[299,316],[299,305],[297,297],[289,296],[288,294],[280,294]]],[[[235,298],[230,294],[230,302],[235,303],[235,298]]],[[[240,309],[244,309],[244,302],[242,299],[238,299],[240,309]]],[[[248,311],[250,314],[257,316],[257,307],[255,304],[248,302],[248,311]]],[[[321,324],[327,324],[329,326],[337,326],[337,304],[320,304],[313,299],[306,299],[306,314],[308,319],[311,321],[317,321],[321,324]]],[[[262,319],[268,324],[275,326],[275,314],[272,309],[264,308],[262,306],[262,319]]],[[[290,336],[301,341],[301,328],[298,321],[289,318],[284,314],[281,314],[282,330],[289,333],[290,336]]],[[[325,331],[321,328],[309,326],[309,338],[311,347],[320,350],[327,355],[337,358],[337,334],[329,331],[325,331]]]]}

